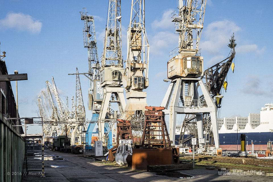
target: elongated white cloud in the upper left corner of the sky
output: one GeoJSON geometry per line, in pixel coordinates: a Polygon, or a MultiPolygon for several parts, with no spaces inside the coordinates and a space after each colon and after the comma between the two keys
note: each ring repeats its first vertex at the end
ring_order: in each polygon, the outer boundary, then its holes
{"type": "Polygon", "coordinates": [[[0,26],[9,29],[13,28],[20,31],[26,30],[31,33],[40,33],[42,22],[23,13],[8,13],[5,18],[0,20],[0,26]]]}

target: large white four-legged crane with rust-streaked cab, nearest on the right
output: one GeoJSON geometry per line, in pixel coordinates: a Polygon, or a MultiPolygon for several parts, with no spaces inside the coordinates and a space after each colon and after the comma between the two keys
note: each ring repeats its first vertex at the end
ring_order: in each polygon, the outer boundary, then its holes
{"type": "MultiPolygon", "coordinates": [[[[210,113],[215,148],[220,149],[218,138],[217,110],[201,76],[203,75],[203,57],[199,55],[200,36],[203,29],[206,1],[179,0],[173,22],[179,33],[178,55],[167,63],[167,77],[171,81],[161,106],[169,114],[170,138],[175,142],[177,114],[196,115],[199,148],[204,150],[203,115],[210,113]],[[199,98],[199,84],[204,99],[199,98]]],[[[211,148],[210,148],[211,149],[211,148]]]]}

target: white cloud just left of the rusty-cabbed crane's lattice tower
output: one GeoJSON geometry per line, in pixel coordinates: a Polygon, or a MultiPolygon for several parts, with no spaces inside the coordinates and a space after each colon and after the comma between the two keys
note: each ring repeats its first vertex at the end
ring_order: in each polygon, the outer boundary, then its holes
{"type": "Polygon", "coordinates": [[[173,13],[174,10],[168,9],[164,11],[161,20],[154,20],[152,22],[152,28],[162,28],[162,29],[168,29],[171,28],[174,30],[174,22],[172,22],[171,13],[173,13]]]}

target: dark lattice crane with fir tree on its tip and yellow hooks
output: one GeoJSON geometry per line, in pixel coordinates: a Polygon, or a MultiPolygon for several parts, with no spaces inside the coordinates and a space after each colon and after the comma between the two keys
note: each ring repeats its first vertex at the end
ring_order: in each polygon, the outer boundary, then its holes
{"type": "MultiPolygon", "coordinates": [[[[216,109],[221,108],[222,106],[222,99],[224,90],[227,89],[228,82],[226,81],[226,76],[228,74],[228,71],[231,67],[232,71],[234,72],[235,64],[233,63],[234,57],[235,57],[235,39],[234,34],[231,36],[231,39],[229,40],[230,44],[228,45],[229,48],[231,48],[231,51],[226,59],[223,61],[213,65],[212,67],[206,69],[204,71],[204,75],[202,76],[202,79],[205,80],[205,86],[210,93],[210,96],[214,100],[214,103],[216,104],[216,109]]],[[[204,96],[201,95],[200,99],[204,99],[204,96]]],[[[218,112],[219,114],[219,112],[218,112]]],[[[213,133],[211,129],[211,119],[210,114],[206,113],[203,115],[203,134],[205,138],[205,150],[209,148],[209,146],[213,145],[213,133]]],[[[191,138],[198,138],[197,137],[197,125],[196,125],[196,116],[195,115],[186,115],[180,130],[179,145],[185,145],[187,144],[191,138]],[[185,132],[187,131],[187,135],[185,135],[185,132]]]]}

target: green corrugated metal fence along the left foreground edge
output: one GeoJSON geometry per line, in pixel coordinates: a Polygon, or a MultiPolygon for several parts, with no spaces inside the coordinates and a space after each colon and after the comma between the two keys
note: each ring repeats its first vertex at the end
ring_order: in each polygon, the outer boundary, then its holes
{"type": "Polygon", "coordinates": [[[0,181],[20,182],[25,155],[24,140],[0,115],[0,181]]]}

